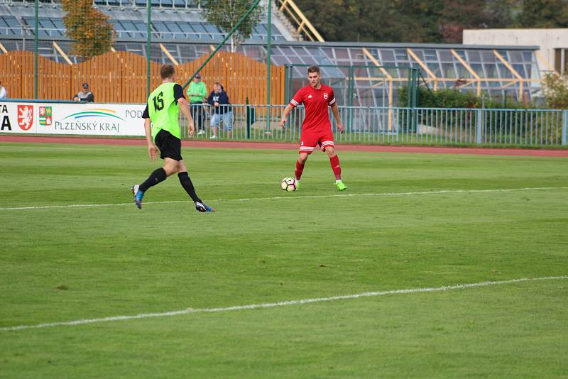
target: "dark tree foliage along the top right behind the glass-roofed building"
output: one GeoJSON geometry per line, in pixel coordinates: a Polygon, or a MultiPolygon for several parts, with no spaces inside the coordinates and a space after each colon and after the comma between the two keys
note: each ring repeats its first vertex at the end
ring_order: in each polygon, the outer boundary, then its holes
{"type": "Polygon", "coordinates": [[[295,0],[328,41],[461,43],[464,29],[565,28],[568,0],[295,0]]]}

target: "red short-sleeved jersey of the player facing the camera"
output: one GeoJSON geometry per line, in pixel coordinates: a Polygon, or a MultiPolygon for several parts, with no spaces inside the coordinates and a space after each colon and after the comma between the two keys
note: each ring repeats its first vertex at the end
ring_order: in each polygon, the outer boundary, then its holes
{"type": "Polygon", "coordinates": [[[322,131],[332,128],[332,123],[329,122],[329,114],[327,106],[335,103],[335,95],[332,87],[327,87],[322,84],[320,89],[315,89],[310,84],[302,87],[296,92],[290,106],[293,108],[304,103],[306,109],[306,116],[302,123],[303,131],[322,131]]]}

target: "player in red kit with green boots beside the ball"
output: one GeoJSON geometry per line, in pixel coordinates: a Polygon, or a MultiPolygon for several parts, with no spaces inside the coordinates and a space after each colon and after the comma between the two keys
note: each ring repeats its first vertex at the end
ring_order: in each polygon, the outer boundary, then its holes
{"type": "Polygon", "coordinates": [[[314,151],[316,145],[320,145],[322,151],[325,151],[329,156],[329,163],[331,163],[335,175],[335,185],[339,191],[343,191],[347,189],[347,186],[342,182],[342,167],[339,166],[339,158],[337,158],[335,153],[332,123],[329,122],[327,113],[327,106],[331,106],[339,133],[343,133],[344,127],[339,120],[339,109],[337,108],[333,89],[320,82],[320,67],[310,66],[307,69],[307,79],[310,81],[310,84],[296,92],[293,99],[290,100],[290,104],[284,109],[282,119],[280,120],[280,126],[284,127],[290,111],[304,103],[306,116],[302,123],[300,148],[298,149],[300,157],[297,158],[296,162],[296,187],[300,188],[300,178],[302,177],[307,157],[314,151]]]}

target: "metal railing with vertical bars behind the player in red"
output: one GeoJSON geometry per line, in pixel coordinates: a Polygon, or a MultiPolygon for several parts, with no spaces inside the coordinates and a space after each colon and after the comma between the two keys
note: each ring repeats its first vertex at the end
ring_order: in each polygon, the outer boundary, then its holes
{"type": "MultiPolygon", "coordinates": [[[[211,114],[205,107],[203,133],[199,138],[207,139],[211,137],[211,114]]],[[[280,128],[284,108],[285,105],[232,105],[232,123],[230,126],[214,123],[217,135],[235,140],[296,142],[300,138],[305,109],[303,106],[294,108],[285,127],[280,128]]],[[[339,133],[329,111],[338,143],[530,148],[567,148],[568,145],[568,110],[339,106],[339,116],[344,126],[349,122],[351,125],[346,127],[345,133],[339,133]]],[[[185,123],[180,119],[181,125],[185,123]]]]}

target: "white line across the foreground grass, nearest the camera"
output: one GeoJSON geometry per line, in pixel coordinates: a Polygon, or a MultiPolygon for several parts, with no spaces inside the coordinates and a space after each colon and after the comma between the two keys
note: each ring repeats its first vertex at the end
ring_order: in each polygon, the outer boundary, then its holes
{"type": "Polygon", "coordinates": [[[378,292],[362,292],[355,295],[339,295],[332,297],[316,297],[313,299],[302,299],[302,300],[287,300],[283,302],[268,302],[263,304],[248,304],[248,305],[236,305],[234,307],[219,307],[219,308],[187,308],[180,309],[178,311],[168,311],[160,313],[141,313],[134,314],[131,316],[112,316],[112,317],[102,317],[99,319],[81,319],[75,321],[65,321],[65,322],[48,322],[45,324],[35,324],[35,325],[19,325],[19,326],[4,326],[0,328],[0,331],[16,331],[23,329],[41,329],[49,328],[53,326],[73,326],[73,325],[83,325],[83,324],[94,324],[98,322],[115,322],[124,321],[132,319],[148,319],[151,317],[168,317],[168,316],[178,316],[181,314],[195,314],[195,313],[219,313],[219,312],[231,312],[240,311],[244,309],[258,309],[258,308],[272,308],[272,307],[284,307],[286,305],[298,305],[298,304],[310,304],[315,302],[334,302],[337,300],[350,300],[359,299],[360,297],[376,297],[385,295],[405,295],[405,294],[415,294],[420,292],[442,292],[449,290],[464,290],[466,288],[472,287],[487,287],[489,285],[507,285],[511,283],[519,282],[534,282],[537,280],[561,280],[568,279],[568,275],[562,276],[547,276],[544,278],[521,278],[521,279],[511,279],[511,280],[500,280],[495,282],[478,282],[469,283],[461,285],[444,285],[442,287],[428,287],[428,288],[410,288],[407,290],[390,290],[390,291],[378,291],[378,292]]]}

